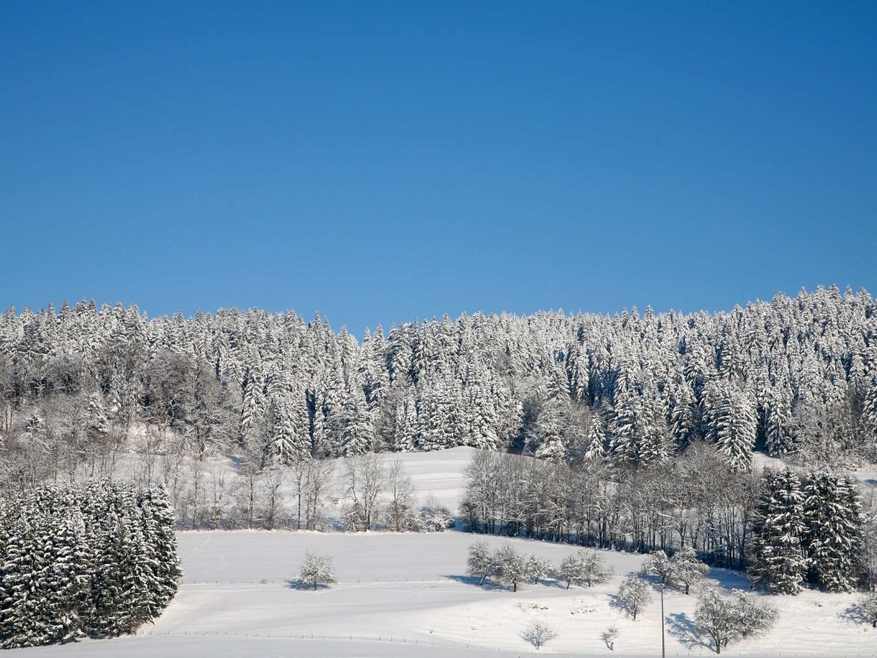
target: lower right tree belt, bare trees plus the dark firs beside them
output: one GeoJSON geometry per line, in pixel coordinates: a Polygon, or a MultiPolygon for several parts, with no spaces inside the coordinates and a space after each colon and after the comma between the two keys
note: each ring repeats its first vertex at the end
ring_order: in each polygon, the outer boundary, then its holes
{"type": "Polygon", "coordinates": [[[739,471],[695,443],[649,468],[476,453],[460,514],[475,533],[638,553],[691,548],[773,591],[877,584],[877,509],[850,476],[739,471]],[[863,502],[866,503],[863,505],[863,502]]]}

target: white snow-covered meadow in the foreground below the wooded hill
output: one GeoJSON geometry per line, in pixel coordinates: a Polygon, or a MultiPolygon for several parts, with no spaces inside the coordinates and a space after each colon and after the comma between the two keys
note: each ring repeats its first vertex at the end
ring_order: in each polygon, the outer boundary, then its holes
{"type": "MultiPolygon", "coordinates": [[[[455,507],[464,481],[460,470],[471,450],[404,455],[418,494],[433,493],[455,507]]],[[[446,532],[434,534],[196,532],[180,533],[185,576],[181,590],[154,626],[134,638],[84,641],[61,647],[6,652],[85,656],[471,656],[533,654],[522,638],[534,619],[558,638],[540,653],[645,656],[660,652],[660,598],[636,622],[612,606],[621,579],[639,569],[640,555],[603,551],[615,576],[593,588],[565,590],[560,583],[527,584],[517,593],[478,587],[466,578],[467,547],[477,539],[501,546],[509,540],[446,532]],[[331,554],[339,583],[303,591],[289,587],[307,550],[331,554]],[[610,653],[602,631],[617,624],[610,653]]],[[[553,561],[572,548],[510,540],[518,549],[553,561]]],[[[714,584],[747,587],[737,572],[714,570],[714,584]]],[[[806,591],[771,597],[777,625],[766,636],[729,647],[747,656],[866,656],[877,654],[877,631],[852,619],[854,595],[806,591]]],[[[715,655],[692,634],[695,596],[667,590],[668,655],[715,655]]]]}

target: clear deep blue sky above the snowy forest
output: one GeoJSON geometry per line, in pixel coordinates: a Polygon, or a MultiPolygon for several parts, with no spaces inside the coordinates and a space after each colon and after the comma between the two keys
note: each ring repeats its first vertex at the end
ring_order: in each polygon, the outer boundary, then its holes
{"type": "Polygon", "coordinates": [[[0,6],[0,307],[877,294],[877,4],[0,6]]]}

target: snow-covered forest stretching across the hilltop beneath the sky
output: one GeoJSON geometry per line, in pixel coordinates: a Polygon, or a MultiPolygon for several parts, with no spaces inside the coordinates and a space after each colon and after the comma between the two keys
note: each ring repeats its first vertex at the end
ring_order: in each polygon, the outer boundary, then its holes
{"type": "Polygon", "coordinates": [[[256,474],[454,446],[639,467],[706,442],[740,472],[758,451],[841,468],[877,456],[875,311],[832,287],[717,313],[464,314],[360,341],[291,311],[11,309],[0,468],[13,488],[133,470],[177,508],[218,456],[256,474]]]}

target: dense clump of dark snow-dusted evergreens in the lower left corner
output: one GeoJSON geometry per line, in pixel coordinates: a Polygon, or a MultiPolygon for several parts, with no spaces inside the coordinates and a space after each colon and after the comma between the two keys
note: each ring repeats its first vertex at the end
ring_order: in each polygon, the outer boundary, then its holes
{"type": "Polygon", "coordinates": [[[132,633],[182,571],[164,490],[102,481],[0,500],[0,647],[132,633]]]}

